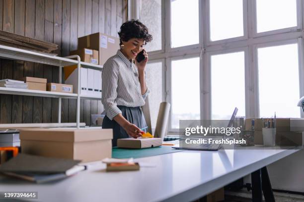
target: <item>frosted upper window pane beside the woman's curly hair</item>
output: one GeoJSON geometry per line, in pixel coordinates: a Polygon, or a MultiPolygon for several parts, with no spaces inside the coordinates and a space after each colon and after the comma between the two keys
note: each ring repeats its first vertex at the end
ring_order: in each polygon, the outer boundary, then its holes
{"type": "Polygon", "coordinates": [[[140,0],[139,18],[153,36],[147,51],[161,50],[161,0],[140,0]]]}

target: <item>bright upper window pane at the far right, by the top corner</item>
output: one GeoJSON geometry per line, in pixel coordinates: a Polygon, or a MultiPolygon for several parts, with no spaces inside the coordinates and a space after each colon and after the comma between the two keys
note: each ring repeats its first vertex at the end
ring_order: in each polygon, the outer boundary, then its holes
{"type": "Polygon", "coordinates": [[[256,0],[257,32],[297,26],[297,0],[256,0]]]}

